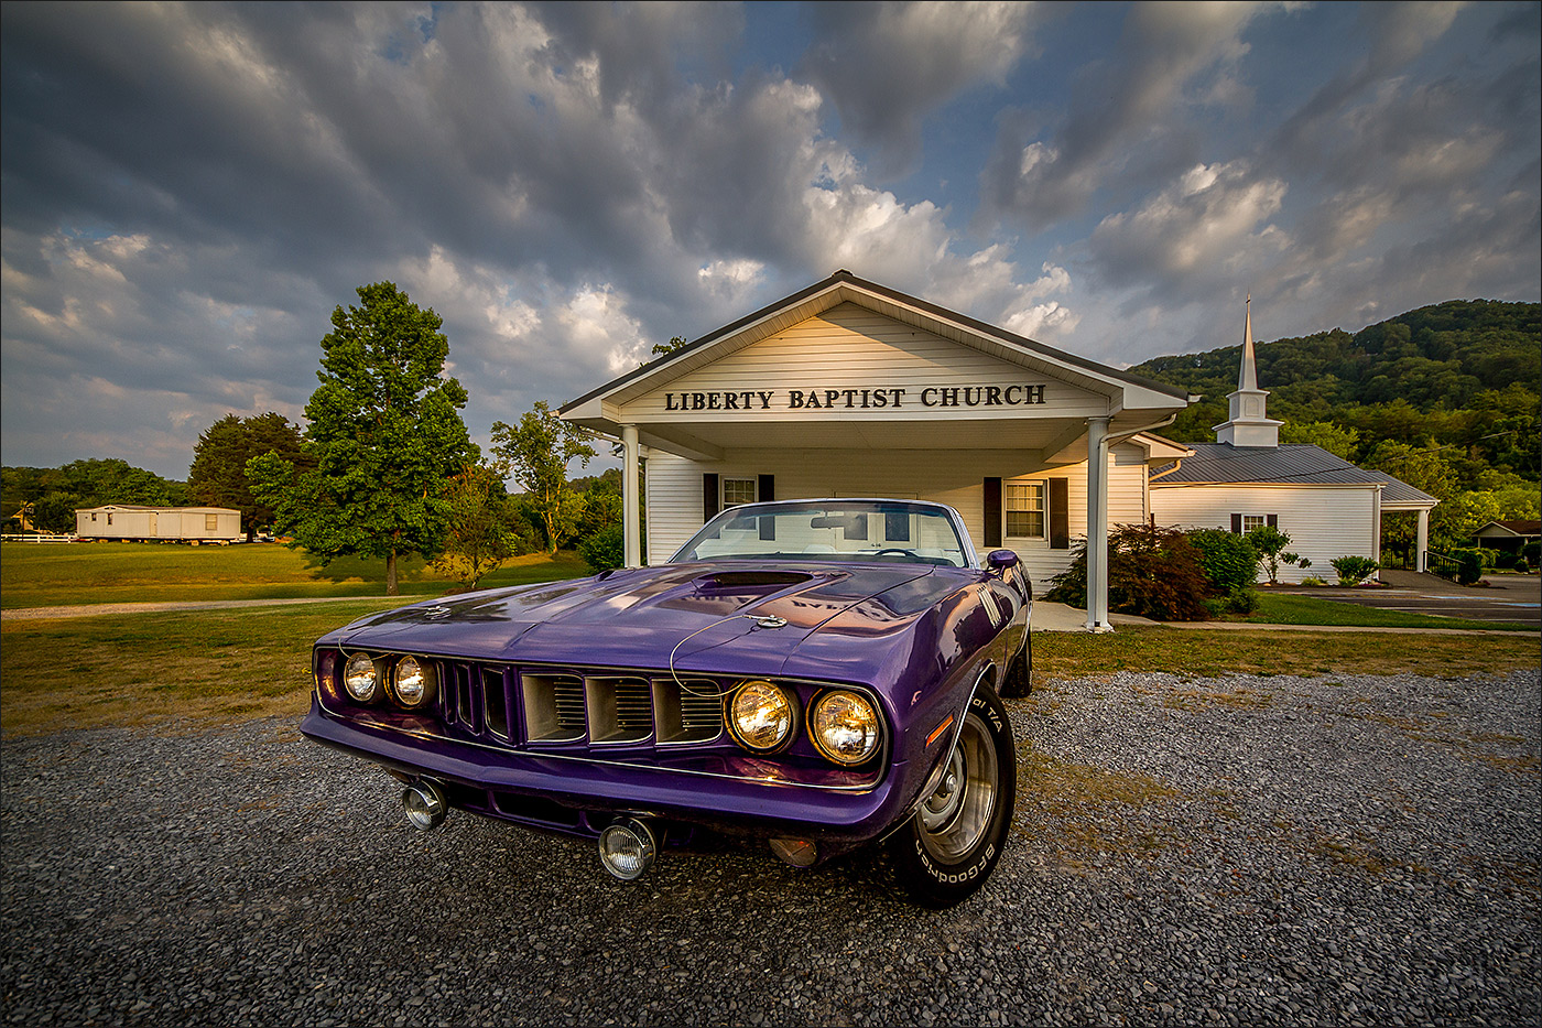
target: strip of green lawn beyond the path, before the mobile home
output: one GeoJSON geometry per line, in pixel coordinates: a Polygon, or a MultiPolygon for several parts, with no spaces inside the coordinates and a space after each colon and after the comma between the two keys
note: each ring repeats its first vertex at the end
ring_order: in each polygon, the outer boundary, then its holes
{"type": "MultiPolygon", "coordinates": [[[[569,551],[515,557],[484,588],[588,574],[569,551]]],[[[398,560],[402,596],[438,596],[455,582],[421,557],[398,560]]],[[[339,557],[328,566],[276,543],[171,546],[157,543],[0,543],[0,607],[66,607],[163,600],[384,596],[386,562],[339,557]]]]}

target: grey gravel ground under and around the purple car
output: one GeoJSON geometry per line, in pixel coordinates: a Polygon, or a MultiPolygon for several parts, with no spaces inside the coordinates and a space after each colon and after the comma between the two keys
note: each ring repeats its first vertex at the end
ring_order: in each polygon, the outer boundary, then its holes
{"type": "Polygon", "coordinates": [[[725,843],[614,884],[293,721],[8,741],[8,1023],[1536,1023],[1534,671],[1119,675],[1010,702],[992,883],[725,843]]]}

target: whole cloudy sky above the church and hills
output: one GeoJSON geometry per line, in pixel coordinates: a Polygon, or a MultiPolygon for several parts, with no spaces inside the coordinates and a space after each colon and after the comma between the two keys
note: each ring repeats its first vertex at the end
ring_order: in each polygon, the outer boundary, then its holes
{"type": "Polygon", "coordinates": [[[0,445],[187,477],[390,279],[464,412],[836,269],[1129,366],[1539,299],[1537,3],[3,6],[0,445]]]}

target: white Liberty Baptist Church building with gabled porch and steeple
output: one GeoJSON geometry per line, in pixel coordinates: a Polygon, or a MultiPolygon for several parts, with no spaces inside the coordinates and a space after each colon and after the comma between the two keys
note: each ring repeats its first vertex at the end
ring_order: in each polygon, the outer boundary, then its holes
{"type": "MultiPolygon", "coordinates": [[[[1251,329],[1243,363],[1232,428],[1215,446],[1305,457],[1268,445],[1278,423],[1264,417],[1266,394],[1246,386],[1251,329]]],[[[1206,480],[1215,477],[1201,458],[1210,448],[1153,434],[1195,400],[842,270],[560,414],[621,441],[629,566],[668,560],[734,503],[913,497],[958,508],[981,553],[1018,551],[1041,591],[1070,565],[1079,540],[1093,540],[1087,628],[1107,630],[1107,534],[1115,523],[1155,517],[1210,525],[1221,511],[1223,528],[1232,512],[1240,525],[1272,516],[1295,536],[1297,509],[1315,505],[1320,512],[1323,503],[1354,497],[1345,520],[1359,519],[1359,529],[1321,546],[1301,539],[1295,548],[1314,554],[1314,563],[1329,550],[1332,557],[1377,554],[1388,480],[1359,472],[1343,483],[1343,499],[1315,480],[1292,489],[1295,471],[1260,482],[1255,474],[1206,480]],[[1200,478],[1180,477],[1192,474],[1200,478]]]]}

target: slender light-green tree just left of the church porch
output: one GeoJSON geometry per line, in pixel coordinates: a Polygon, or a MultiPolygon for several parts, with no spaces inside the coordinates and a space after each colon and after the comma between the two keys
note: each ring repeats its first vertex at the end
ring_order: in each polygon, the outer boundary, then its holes
{"type": "Polygon", "coordinates": [[[557,553],[583,516],[583,494],[567,483],[567,465],[588,466],[594,458],[594,434],[563,421],[544,400],[524,412],[518,426],[493,421],[493,454],[500,469],[524,489],[532,520],[546,534],[547,553],[557,553]]]}

